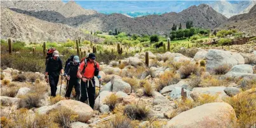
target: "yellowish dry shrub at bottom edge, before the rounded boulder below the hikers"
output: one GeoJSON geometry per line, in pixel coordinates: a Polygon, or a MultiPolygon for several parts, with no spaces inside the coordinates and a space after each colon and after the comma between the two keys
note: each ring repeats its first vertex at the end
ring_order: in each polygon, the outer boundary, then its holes
{"type": "Polygon", "coordinates": [[[65,107],[60,107],[57,110],[51,111],[49,116],[55,123],[60,124],[60,127],[70,127],[70,124],[76,122],[78,119],[76,112],[65,107]]]}

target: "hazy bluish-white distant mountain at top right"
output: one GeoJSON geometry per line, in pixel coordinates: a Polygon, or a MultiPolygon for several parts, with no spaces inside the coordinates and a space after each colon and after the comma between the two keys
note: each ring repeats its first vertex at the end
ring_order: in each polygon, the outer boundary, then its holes
{"type": "Polygon", "coordinates": [[[209,4],[213,9],[222,15],[230,18],[231,16],[248,13],[250,8],[256,4],[256,1],[239,1],[238,3],[231,3],[229,1],[216,1],[209,4]]]}

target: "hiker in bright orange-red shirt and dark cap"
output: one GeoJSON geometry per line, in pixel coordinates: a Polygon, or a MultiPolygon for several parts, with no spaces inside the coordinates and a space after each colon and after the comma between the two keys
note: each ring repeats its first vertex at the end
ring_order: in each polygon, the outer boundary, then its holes
{"type": "Polygon", "coordinates": [[[80,64],[77,77],[81,79],[81,98],[80,102],[88,100],[90,107],[94,107],[95,103],[95,79],[101,81],[101,76],[98,75],[100,65],[95,61],[96,55],[90,53],[88,57],[80,64]],[[88,97],[87,97],[88,95],[88,97]]]}

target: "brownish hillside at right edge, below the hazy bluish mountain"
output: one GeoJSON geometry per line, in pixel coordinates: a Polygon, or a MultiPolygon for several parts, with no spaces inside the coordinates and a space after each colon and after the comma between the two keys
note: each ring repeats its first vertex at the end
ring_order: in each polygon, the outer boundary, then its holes
{"type": "Polygon", "coordinates": [[[248,13],[232,16],[217,29],[238,29],[241,32],[255,35],[256,32],[256,5],[248,13]]]}

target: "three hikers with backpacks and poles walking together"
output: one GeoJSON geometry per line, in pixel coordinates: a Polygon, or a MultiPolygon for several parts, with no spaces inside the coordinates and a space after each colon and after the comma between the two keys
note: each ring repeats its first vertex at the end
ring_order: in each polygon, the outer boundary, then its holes
{"type": "MultiPolygon", "coordinates": [[[[71,55],[65,64],[65,70],[62,67],[62,60],[56,49],[49,49],[46,55],[46,82],[50,84],[51,96],[56,96],[59,76],[67,79],[67,91],[65,98],[70,99],[72,89],[76,91],[76,100],[85,102],[88,100],[91,108],[95,103],[95,78],[101,81],[99,75],[100,65],[95,61],[96,55],[90,53],[79,61],[77,55],[71,55]],[[79,83],[81,81],[81,85],[79,83]]],[[[62,86],[62,85],[61,85],[62,86]]]]}

